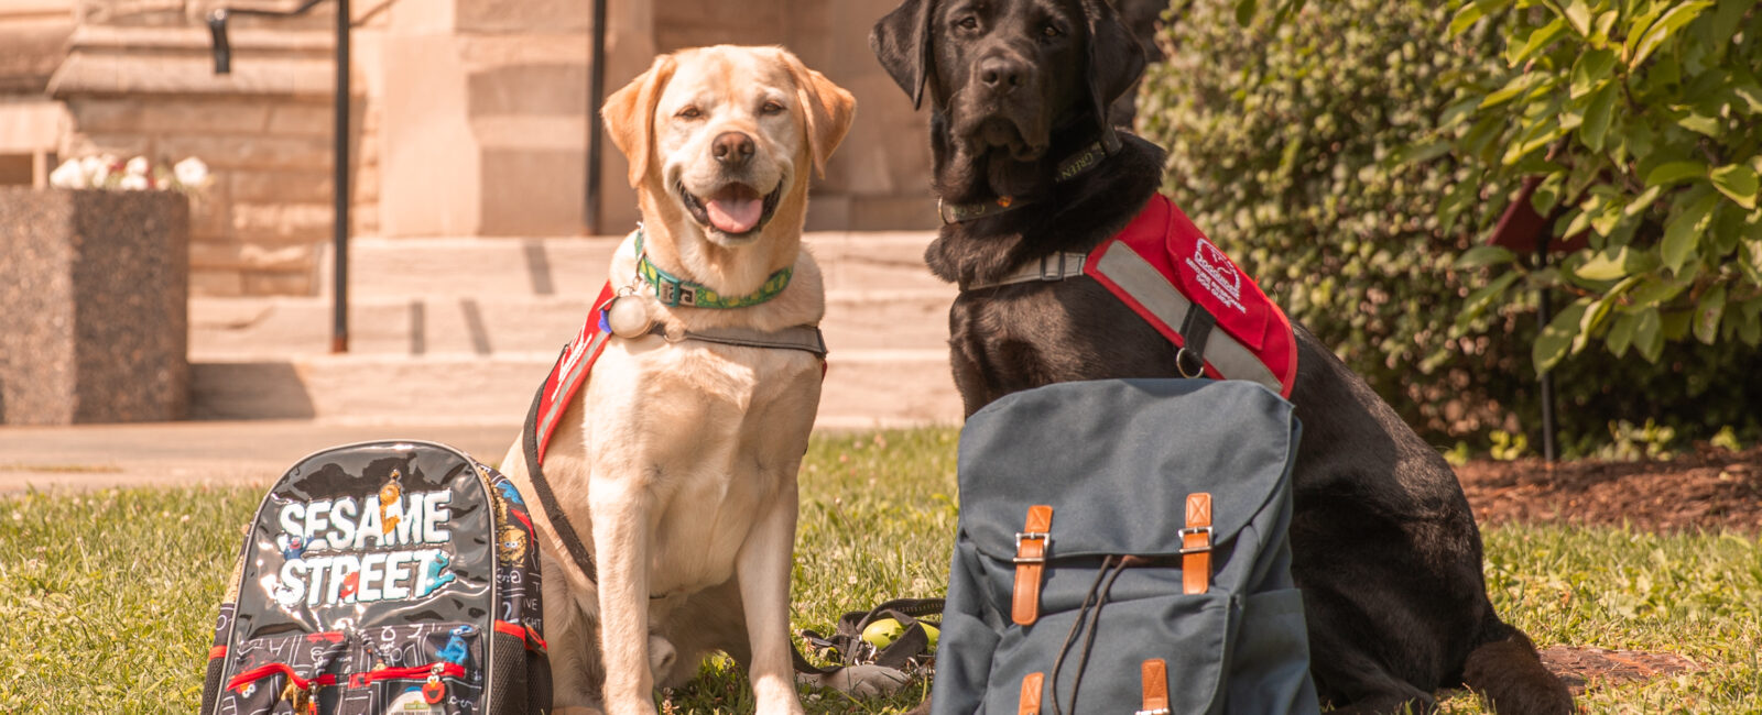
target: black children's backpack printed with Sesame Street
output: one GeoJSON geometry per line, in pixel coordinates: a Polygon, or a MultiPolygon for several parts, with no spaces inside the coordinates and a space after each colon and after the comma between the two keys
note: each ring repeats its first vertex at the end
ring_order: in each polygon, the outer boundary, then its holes
{"type": "Polygon", "coordinates": [[[548,713],[543,632],[507,477],[432,442],[324,449],[257,507],[201,711],[548,713]]]}

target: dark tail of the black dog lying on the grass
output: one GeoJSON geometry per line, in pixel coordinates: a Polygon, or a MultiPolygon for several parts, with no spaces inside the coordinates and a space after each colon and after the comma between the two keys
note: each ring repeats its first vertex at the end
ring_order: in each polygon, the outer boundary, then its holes
{"type": "Polygon", "coordinates": [[[1489,638],[1468,653],[1462,682],[1499,715],[1570,715],[1572,692],[1542,666],[1522,630],[1496,622],[1489,638]]]}

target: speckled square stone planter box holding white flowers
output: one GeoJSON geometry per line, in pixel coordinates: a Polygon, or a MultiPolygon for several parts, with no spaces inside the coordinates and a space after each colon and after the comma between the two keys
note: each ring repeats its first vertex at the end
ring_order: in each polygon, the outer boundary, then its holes
{"type": "Polygon", "coordinates": [[[190,204],[0,188],[0,424],[183,419],[190,204]]]}

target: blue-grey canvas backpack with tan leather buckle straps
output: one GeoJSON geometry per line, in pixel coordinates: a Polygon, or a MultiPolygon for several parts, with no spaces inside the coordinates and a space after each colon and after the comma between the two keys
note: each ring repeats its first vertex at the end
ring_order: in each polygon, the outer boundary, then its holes
{"type": "Polygon", "coordinates": [[[1297,439],[1244,380],[1062,382],[969,417],[930,711],[1318,711],[1297,439]]]}

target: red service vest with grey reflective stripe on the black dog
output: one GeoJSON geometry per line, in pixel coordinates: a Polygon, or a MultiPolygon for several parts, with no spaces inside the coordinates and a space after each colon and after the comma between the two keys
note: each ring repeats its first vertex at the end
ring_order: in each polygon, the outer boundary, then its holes
{"type": "Polygon", "coordinates": [[[1084,275],[1107,285],[1177,347],[1186,345],[1177,328],[1188,306],[1198,303],[1218,319],[1205,343],[1205,373],[1292,396],[1292,321],[1168,197],[1151,197],[1119,236],[1089,252],[1084,275]]]}

